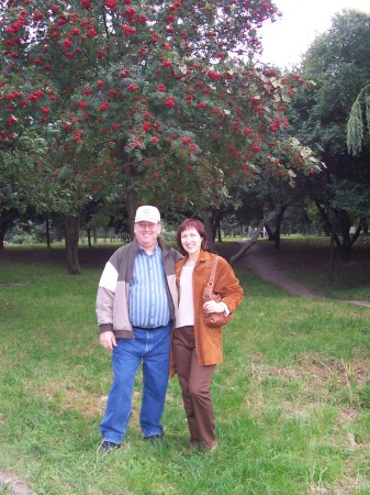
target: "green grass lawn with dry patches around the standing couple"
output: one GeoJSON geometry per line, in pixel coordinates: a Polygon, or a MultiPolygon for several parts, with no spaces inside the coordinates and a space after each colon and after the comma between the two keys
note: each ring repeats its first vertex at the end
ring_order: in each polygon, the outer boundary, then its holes
{"type": "MultiPolygon", "coordinates": [[[[144,442],[138,375],[122,449],[99,455],[112,372],[94,299],[110,252],[81,249],[80,276],[60,249],[0,252],[2,475],[34,495],[370,494],[370,308],[289,296],[240,263],[246,297],[213,381],[218,449],[189,448],[177,378],[164,443],[144,442]]],[[[310,284],[324,286],[319,264],[310,284]]]]}

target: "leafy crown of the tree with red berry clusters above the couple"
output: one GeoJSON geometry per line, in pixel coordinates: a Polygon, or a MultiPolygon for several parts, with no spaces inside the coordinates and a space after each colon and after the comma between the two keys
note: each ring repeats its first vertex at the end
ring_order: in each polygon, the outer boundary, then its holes
{"type": "Polygon", "coordinates": [[[285,105],[304,80],[251,63],[258,29],[278,14],[270,0],[0,3],[0,145],[44,124],[37,172],[69,195],[75,238],[91,195],[122,195],[132,224],[139,202],[217,205],[229,180],[279,161],[285,105]]]}

